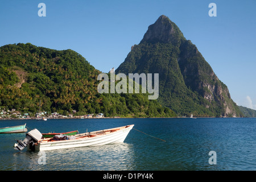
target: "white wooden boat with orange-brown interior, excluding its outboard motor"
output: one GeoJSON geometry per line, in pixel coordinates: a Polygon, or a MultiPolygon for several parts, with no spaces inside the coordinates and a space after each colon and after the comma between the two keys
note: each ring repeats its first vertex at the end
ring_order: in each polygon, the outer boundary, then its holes
{"type": "Polygon", "coordinates": [[[86,147],[86,146],[98,146],[110,143],[122,143],[129,131],[133,129],[134,125],[127,125],[122,127],[116,127],[113,129],[93,131],[89,133],[82,133],[73,135],[74,139],[68,140],[53,140],[53,138],[44,138],[38,140],[38,142],[28,144],[28,150],[46,151],[56,150],[61,148],[74,148],[74,147],[86,147]]]}

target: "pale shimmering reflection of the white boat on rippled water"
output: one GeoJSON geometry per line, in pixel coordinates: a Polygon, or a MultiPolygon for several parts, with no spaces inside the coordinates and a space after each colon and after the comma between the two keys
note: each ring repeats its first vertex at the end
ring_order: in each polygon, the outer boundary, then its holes
{"type": "Polygon", "coordinates": [[[131,147],[123,143],[45,151],[46,164],[35,170],[133,170],[131,147]]]}

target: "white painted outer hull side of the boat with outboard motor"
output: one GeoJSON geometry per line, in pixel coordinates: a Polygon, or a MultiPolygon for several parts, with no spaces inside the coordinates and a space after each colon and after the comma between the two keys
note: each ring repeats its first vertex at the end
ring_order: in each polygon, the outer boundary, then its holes
{"type": "MultiPolygon", "coordinates": [[[[35,144],[35,151],[57,150],[62,148],[76,148],[87,146],[100,146],[110,143],[122,143],[134,125],[129,125],[122,130],[113,133],[98,135],[96,137],[86,137],[79,139],[82,134],[75,135],[77,139],[73,140],[60,140],[54,142],[38,142],[35,144]]],[[[109,129],[111,130],[111,129],[109,129]]],[[[102,130],[103,131],[103,130],[102,130]]],[[[86,133],[85,133],[86,134],[86,133]]],[[[30,146],[28,146],[30,150],[30,146]]]]}

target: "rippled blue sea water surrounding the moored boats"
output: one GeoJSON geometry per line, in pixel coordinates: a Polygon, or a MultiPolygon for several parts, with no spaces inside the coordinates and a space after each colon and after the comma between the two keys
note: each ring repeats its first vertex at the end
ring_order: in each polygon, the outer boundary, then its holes
{"type": "Polygon", "coordinates": [[[0,134],[0,170],[256,170],[256,118],[10,120],[0,121],[0,128],[24,123],[41,133],[134,124],[166,142],[131,130],[121,144],[19,152],[13,145],[25,134],[0,134]],[[217,164],[209,164],[210,151],[217,164]]]}

